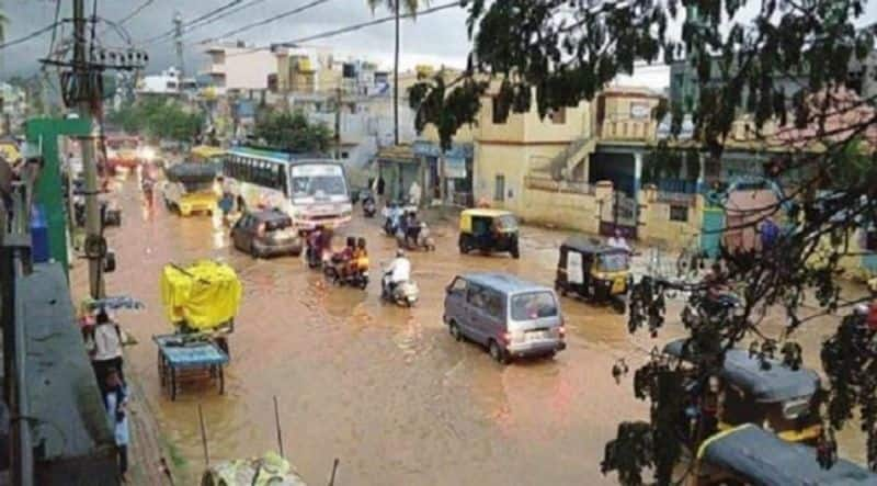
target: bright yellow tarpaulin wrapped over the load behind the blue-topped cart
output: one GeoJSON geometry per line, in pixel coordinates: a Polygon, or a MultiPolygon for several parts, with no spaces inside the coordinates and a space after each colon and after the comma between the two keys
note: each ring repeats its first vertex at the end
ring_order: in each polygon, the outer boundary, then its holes
{"type": "Polygon", "coordinates": [[[168,319],[185,321],[190,328],[210,330],[238,313],[242,287],[235,269],[204,260],[181,268],[164,265],[161,302],[168,319]]]}

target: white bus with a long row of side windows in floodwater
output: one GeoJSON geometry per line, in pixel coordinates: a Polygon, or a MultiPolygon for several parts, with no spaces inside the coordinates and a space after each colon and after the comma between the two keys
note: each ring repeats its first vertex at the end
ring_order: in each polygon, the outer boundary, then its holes
{"type": "Polygon", "coordinates": [[[298,229],[337,228],[353,212],[344,166],[249,147],[228,150],[223,174],[241,208],[278,208],[298,229]]]}

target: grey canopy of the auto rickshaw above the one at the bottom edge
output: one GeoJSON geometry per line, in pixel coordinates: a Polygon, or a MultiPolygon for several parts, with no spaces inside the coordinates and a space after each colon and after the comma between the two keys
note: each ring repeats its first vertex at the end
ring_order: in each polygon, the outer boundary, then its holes
{"type": "MultiPolygon", "coordinates": [[[[664,346],[664,353],[691,361],[687,339],[677,339],[664,346]]],[[[730,349],[725,353],[720,376],[741,388],[758,403],[774,404],[812,396],[819,389],[819,375],[810,369],[793,370],[777,360],[766,360],[762,365],[749,351],[730,349]]]]}

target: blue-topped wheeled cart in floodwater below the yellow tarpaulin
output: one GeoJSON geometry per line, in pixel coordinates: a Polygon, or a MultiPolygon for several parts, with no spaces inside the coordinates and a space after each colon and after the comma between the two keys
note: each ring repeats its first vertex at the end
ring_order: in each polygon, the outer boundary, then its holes
{"type": "Polygon", "coordinates": [[[161,387],[171,400],[182,382],[209,380],[215,382],[219,393],[225,393],[224,368],[228,354],[210,339],[192,339],[186,335],[173,334],[152,336],[158,344],[158,376],[161,387]]]}

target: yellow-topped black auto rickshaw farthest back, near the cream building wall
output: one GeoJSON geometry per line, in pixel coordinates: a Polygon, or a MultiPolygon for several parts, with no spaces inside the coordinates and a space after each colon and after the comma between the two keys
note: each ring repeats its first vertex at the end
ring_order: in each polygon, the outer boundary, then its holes
{"type": "Polygon", "coordinates": [[[517,218],[508,211],[465,210],[459,215],[459,252],[508,251],[520,258],[517,218]]]}

